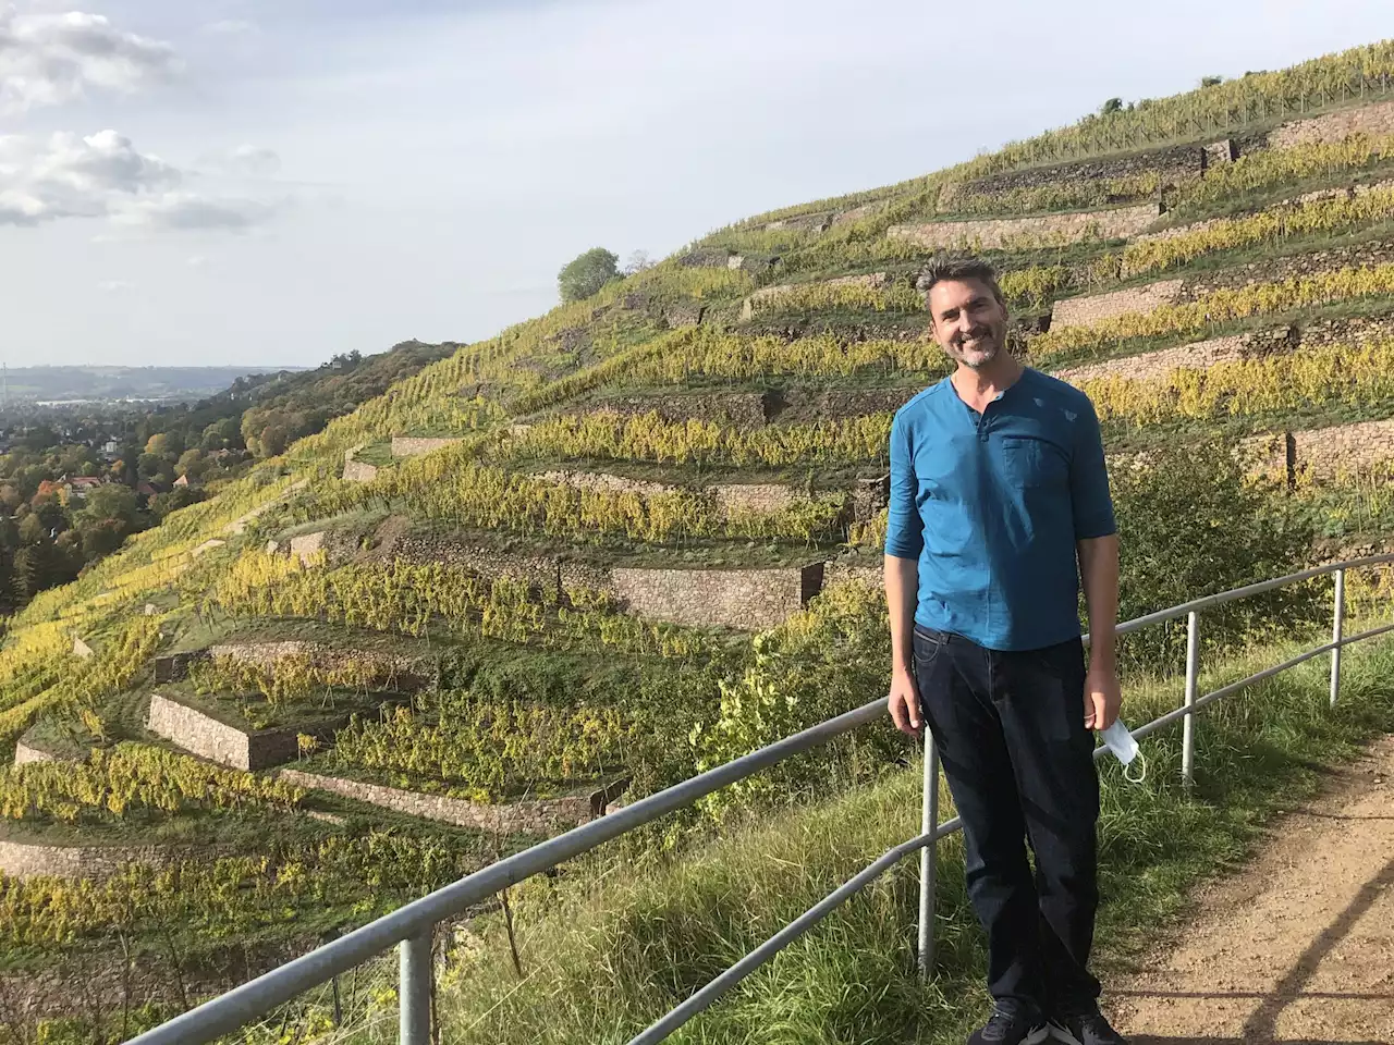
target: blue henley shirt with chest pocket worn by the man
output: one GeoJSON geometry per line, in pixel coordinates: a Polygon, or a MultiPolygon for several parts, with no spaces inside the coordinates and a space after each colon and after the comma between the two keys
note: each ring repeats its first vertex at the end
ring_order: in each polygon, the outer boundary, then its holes
{"type": "Polygon", "coordinates": [[[885,553],[920,562],[917,624],[988,649],[1075,638],[1075,542],[1114,529],[1079,389],[1027,368],[979,414],[945,378],[896,412],[885,553]]]}

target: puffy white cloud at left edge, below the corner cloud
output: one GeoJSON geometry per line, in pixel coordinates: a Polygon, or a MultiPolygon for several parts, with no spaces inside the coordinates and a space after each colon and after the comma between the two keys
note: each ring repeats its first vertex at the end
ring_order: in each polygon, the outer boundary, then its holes
{"type": "Polygon", "coordinates": [[[183,171],[116,131],[0,138],[0,224],[107,217],[128,227],[245,231],[273,212],[268,203],[208,196],[184,184],[183,171]]]}

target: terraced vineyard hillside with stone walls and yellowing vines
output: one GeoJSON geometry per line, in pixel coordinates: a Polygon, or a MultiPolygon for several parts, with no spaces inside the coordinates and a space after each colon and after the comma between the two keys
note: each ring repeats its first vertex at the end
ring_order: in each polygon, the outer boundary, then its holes
{"type": "MultiPolygon", "coordinates": [[[[916,286],[944,251],[988,256],[1015,351],[1097,404],[1125,616],[1387,546],[1390,74],[1372,45],[737,222],[33,598],[0,649],[0,1000],[118,1039],[884,694],[885,443],[947,372],[916,286]]],[[[254,439],[314,408],[300,380],[234,387],[254,439]]],[[[1216,613],[1206,655],[1316,595],[1216,613]]],[[[1178,635],[1124,652],[1167,670],[1178,635]]],[[[868,730],[626,858],[905,758],[868,730]]]]}

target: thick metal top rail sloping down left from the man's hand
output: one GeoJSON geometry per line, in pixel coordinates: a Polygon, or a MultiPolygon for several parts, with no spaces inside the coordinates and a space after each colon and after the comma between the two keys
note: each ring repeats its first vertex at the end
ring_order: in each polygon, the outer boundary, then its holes
{"type": "Polygon", "coordinates": [[[428,932],[435,922],[460,914],[506,886],[517,885],[539,871],[546,871],[562,861],[588,853],[627,830],[690,805],[703,796],[743,780],[775,762],[817,747],[885,713],[885,698],[880,697],[855,711],[820,722],[817,726],[785,737],[760,751],[708,769],[705,773],[641,798],[633,805],[626,805],[616,812],[573,828],[565,835],[558,835],[555,839],[526,849],[496,864],[489,864],[459,882],[442,886],[429,896],[413,900],[332,943],[301,954],[298,959],[263,973],[224,995],[204,1002],[197,1009],[176,1016],[169,1023],[145,1031],[145,1034],[132,1038],[130,1045],[205,1045],[205,1042],[251,1023],[296,995],[318,986],[337,973],[346,973],[354,966],[362,964],[408,936],[428,932]]]}

